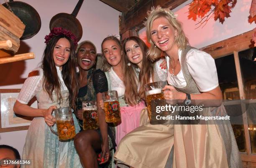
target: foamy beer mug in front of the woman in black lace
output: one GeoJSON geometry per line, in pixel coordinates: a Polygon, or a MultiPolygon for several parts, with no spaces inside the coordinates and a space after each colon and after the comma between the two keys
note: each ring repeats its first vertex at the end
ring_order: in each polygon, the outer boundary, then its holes
{"type": "Polygon", "coordinates": [[[97,101],[83,101],[83,130],[95,130],[99,128],[97,101]]]}

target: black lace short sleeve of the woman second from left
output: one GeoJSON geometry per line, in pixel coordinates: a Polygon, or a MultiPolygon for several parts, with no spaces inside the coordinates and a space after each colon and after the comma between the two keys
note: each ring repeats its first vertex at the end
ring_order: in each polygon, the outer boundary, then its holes
{"type": "Polygon", "coordinates": [[[107,77],[105,73],[100,69],[97,69],[94,72],[92,83],[93,83],[93,87],[95,88],[96,94],[108,91],[107,77]]]}

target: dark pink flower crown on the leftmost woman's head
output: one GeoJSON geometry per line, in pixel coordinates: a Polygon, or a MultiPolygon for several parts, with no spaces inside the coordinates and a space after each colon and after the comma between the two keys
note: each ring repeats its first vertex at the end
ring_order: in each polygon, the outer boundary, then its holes
{"type": "Polygon", "coordinates": [[[76,36],[71,32],[71,31],[68,31],[64,28],[61,28],[61,27],[58,27],[58,28],[53,28],[51,29],[51,33],[49,35],[46,35],[45,36],[45,42],[46,44],[49,43],[49,41],[51,41],[51,38],[53,38],[54,36],[59,36],[59,35],[64,35],[64,36],[67,36],[69,37],[73,43],[74,43],[74,46],[77,47],[77,38],[76,36]]]}

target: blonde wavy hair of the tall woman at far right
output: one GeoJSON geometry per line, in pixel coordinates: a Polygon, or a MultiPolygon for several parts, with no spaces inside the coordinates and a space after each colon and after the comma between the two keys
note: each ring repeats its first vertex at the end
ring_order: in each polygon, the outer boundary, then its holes
{"type": "Polygon", "coordinates": [[[169,21],[169,23],[174,27],[174,29],[177,30],[177,36],[174,39],[174,43],[176,43],[180,49],[186,48],[186,46],[189,44],[188,39],[185,36],[184,31],[182,30],[182,24],[176,19],[176,17],[170,15],[170,13],[172,13],[172,11],[170,11],[169,9],[163,9],[160,6],[157,6],[156,9],[153,9],[148,12],[148,18],[145,25],[147,39],[148,42],[151,44],[150,48],[148,49],[147,56],[148,59],[150,59],[151,61],[159,59],[162,52],[158,47],[155,47],[155,44],[151,39],[150,33],[153,22],[157,18],[166,18],[169,21]]]}

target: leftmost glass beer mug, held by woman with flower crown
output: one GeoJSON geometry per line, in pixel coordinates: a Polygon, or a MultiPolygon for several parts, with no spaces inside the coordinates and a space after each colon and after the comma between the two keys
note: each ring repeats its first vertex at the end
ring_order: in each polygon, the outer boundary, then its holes
{"type": "Polygon", "coordinates": [[[52,126],[50,126],[51,131],[59,136],[59,140],[72,139],[76,135],[76,132],[71,107],[54,109],[54,114],[58,132],[54,131],[52,126]]]}

